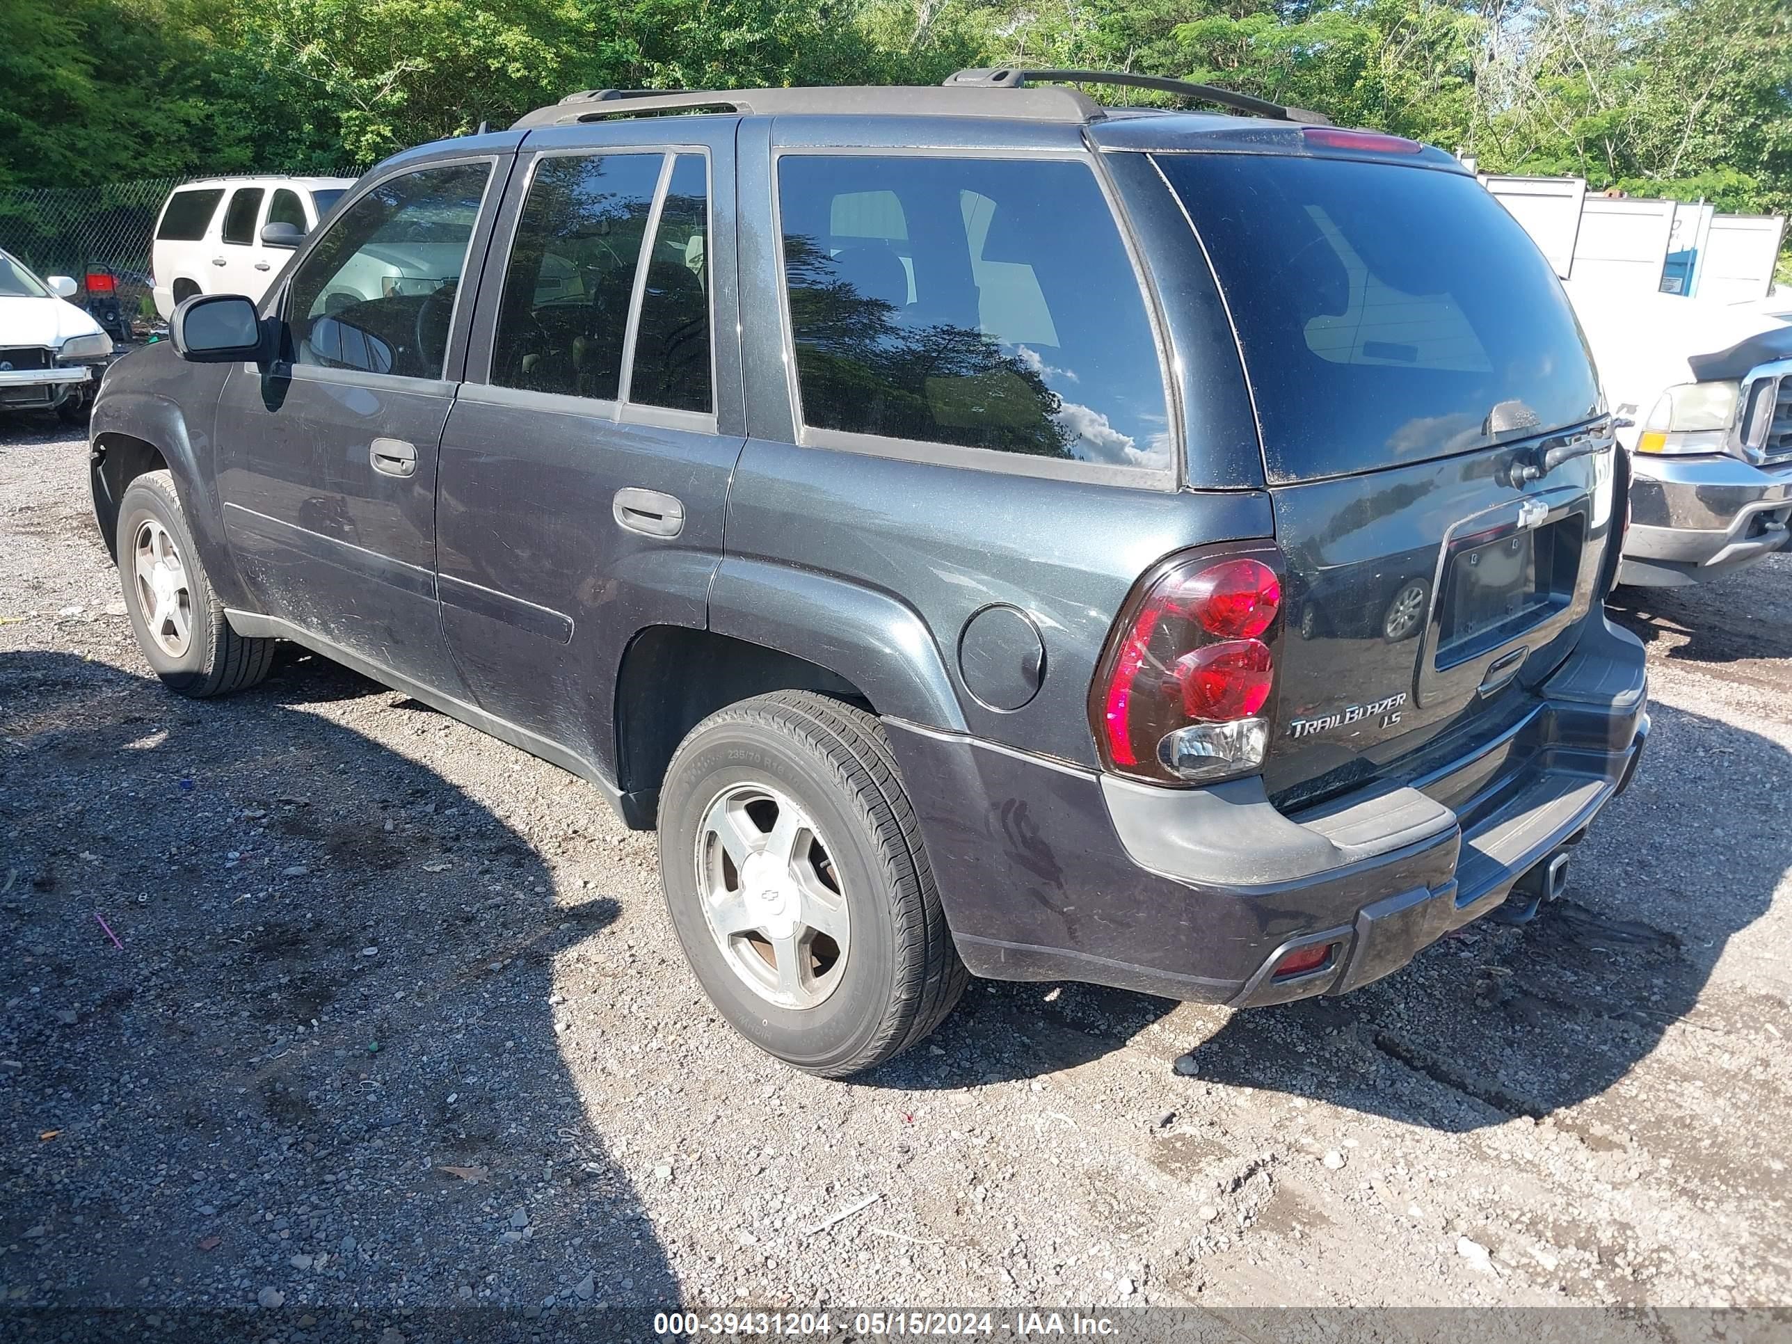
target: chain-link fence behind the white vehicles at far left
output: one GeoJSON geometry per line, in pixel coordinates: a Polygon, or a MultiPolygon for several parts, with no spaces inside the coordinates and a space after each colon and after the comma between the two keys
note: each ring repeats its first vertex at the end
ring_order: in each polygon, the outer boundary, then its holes
{"type": "MultiPolygon", "coordinates": [[[[360,168],[326,176],[355,177],[360,168]]],[[[39,276],[70,276],[115,340],[159,323],[151,296],[151,246],[168,192],[194,177],[143,177],[102,186],[0,186],[0,249],[39,276]],[[109,289],[108,289],[109,283],[109,289]],[[116,306],[113,306],[116,303],[116,306]]]]}

